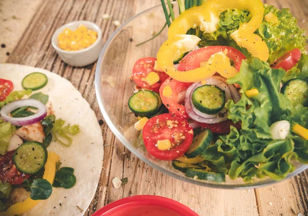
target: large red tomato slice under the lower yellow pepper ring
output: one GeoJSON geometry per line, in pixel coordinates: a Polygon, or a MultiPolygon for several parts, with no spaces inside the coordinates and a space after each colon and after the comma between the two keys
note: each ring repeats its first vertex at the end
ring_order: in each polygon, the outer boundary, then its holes
{"type": "Polygon", "coordinates": [[[200,64],[202,62],[207,62],[211,55],[217,52],[221,51],[223,52],[224,50],[228,51],[227,52],[228,58],[230,58],[230,60],[234,62],[234,67],[237,69],[237,71],[239,71],[242,64],[242,60],[245,60],[246,57],[241,51],[228,46],[209,46],[194,50],[182,58],[182,60],[179,63],[178,70],[187,71],[200,68],[200,64]]]}

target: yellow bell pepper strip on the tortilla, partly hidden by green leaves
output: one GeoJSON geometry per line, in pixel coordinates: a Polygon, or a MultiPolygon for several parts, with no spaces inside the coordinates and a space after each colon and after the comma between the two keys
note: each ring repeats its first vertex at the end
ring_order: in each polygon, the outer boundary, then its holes
{"type": "MultiPolygon", "coordinates": [[[[45,172],[43,175],[43,179],[46,179],[50,184],[53,184],[54,176],[55,176],[55,164],[60,160],[60,156],[54,153],[53,151],[48,152],[48,158],[47,162],[45,164],[45,172]]],[[[33,208],[35,205],[37,205],[41,200],[32,200],[31,198],[27,198],[25,202],[22,203],[16,203],[12,206],[10,206],[5,212],[0,212],[0,215],[2,216],[14,216],[14,215],[20,215],[27,211],[29,211],[31,208],[33,208]]]]}

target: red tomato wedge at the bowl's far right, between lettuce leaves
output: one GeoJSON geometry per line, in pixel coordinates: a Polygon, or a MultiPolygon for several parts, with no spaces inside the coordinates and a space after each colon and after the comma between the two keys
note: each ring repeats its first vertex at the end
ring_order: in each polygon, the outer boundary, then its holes
{"type": "Polygon", "coordinates": [[[278,58],[278,60],[276,60],[271,65],[271,67],[277,69],[282,68],[285,71],[288,71],[291,68],[293,68],[294,65],[298,63],[299,60],[300,60],[300,50],[296,48],[278,58]]]}

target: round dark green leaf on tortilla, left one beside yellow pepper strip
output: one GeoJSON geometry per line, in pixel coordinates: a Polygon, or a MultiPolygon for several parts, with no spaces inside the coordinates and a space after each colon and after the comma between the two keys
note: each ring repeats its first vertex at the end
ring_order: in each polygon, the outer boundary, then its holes
{"type": "Polygon", "coordinates": [[[52,193],[52,186],[46,179],[35,179],[30,191],[32,200],[47,200],[52,193]]]}

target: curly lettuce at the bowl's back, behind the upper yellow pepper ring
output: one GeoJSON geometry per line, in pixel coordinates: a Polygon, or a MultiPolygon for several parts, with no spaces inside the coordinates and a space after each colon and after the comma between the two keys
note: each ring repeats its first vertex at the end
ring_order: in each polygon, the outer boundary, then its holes
{"type": "MultiPolygon", "coordinates": [[[[279,10],[274,6],[264,5],[264,15],[269,12],[274,13],[278,17],[277,24],[269,24],[263,18],[262,24],[255,31],[265,41],[269,57],[268,62],[272,63],[284,53],[298,48],[302,52],[306,52],[304,34],[305,30],[300,29],[297,25],[297,19],[290,13],[290,9],[283,8],[279,10]]],[[[252,18],[247,10],[226,10],[220,14],[219,28],[213,33],[203,33],[201,46],[224,45],[232,46],[239,49],[251,58],[251,54],[245,48],[239,47],[230,37],[230,34],[237,30],[243,23],[247,23],[252,18]]]]}

